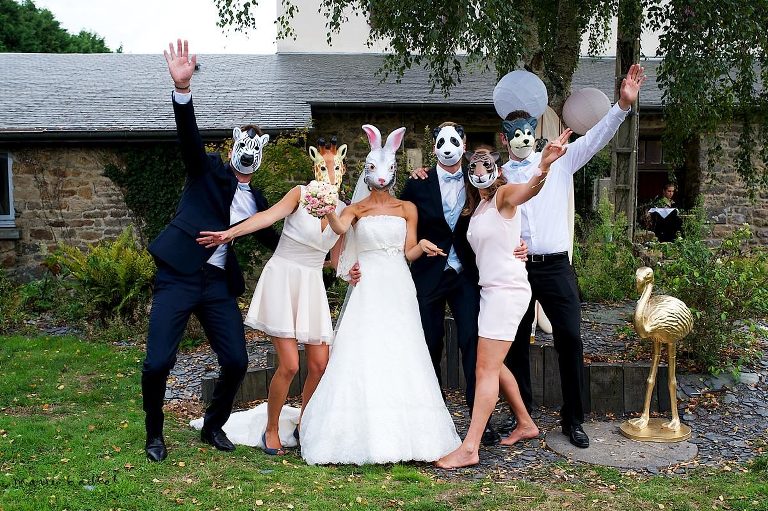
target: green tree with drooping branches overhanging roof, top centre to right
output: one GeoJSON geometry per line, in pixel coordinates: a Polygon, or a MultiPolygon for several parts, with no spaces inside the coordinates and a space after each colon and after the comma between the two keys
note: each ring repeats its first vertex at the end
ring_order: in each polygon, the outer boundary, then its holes
{"type": "MultiPolygon", "coordinates": [[[[256,27],[258,0],[213,1],[220,26],[256,27]]],[[[291,19],[298,7],[282,1],[278,37],[295,37],[291,19]]],[[[762,171],[757,165],[768,163],[768,89],[760,86],[768,83],[768,0],[634,2],[623,11],[646,13],[637,33],[661,33],[658,79],[665,89],[669,155],[682,160],[691,137],[735,123],[742,127],[739,172],[748,185],[768,186],[768,165],[762,171]]],[[[388,42],[384,77],[424,66],[433,87],[447,95],[467,72],[487,68],[502,76],[525,67],[544,81],[558,113],[570,93],[582,37],[588,34],[590,52],[603,48],[618,8],[619,0],[320,1],[329,41],[348,15],[368,18],[369,42],[388,42]],[[466,57],[457,55],[460,49],[466,57]]]]}

